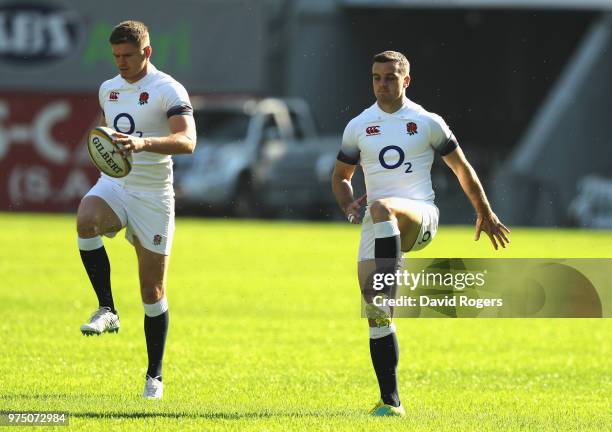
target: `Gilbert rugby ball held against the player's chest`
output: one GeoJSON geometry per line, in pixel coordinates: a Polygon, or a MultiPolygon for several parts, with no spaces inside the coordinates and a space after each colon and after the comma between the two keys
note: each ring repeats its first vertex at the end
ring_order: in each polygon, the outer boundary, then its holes
{"type": "Polygon", "coordinates": [[[87,150],[93,164],[111,177],[125,177],[132,170],[132,155],[123,156],[119,146],[113,142],[115,131],[98,126],[87,137],[87,150]]]}

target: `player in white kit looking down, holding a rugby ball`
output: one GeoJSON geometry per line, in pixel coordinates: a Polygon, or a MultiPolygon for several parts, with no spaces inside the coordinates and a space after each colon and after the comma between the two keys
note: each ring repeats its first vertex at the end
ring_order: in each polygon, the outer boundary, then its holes
{"type": "Polygon", "coordinates": [[[102,235],[125,237],[138,259],[148,368],[144,397],[163,396],[162,360],[168,331],[166,275],[174,234],[174,191],[170,155],[193,153],[196,131],[185,88],[150,62],[147,27],[138,21],[117,25],[109,38],[119,75],[100,86],[102,126],[132,154],[123,178],[101,174],[82,199],[77,215],[78,246],[98,309],[81,326],[86,335],[117,332],[119,316],[110,283],[102,235]]]}

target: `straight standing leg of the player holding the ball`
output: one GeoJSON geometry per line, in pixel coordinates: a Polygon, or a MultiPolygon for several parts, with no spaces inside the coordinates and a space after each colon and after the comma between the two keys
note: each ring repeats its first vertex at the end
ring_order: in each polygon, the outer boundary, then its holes
{"type": "Polygon", "coordinates": [[[168,256],[152,252],[134,237],[138,256],[140,294],[144,306],[144,330],[149,363],[143,396],[161,399],[163,396],[162,362],[168,334],[168,301],[166,300],[166,274],[168,256]]]}

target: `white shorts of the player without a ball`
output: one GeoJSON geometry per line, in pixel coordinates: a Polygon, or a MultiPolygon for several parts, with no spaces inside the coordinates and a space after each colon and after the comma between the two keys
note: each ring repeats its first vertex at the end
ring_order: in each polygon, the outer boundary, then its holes
{"type": "MultiPolygon", "coordinates": [[[[394,202],[400,202],[402,207],[416,210],[421,213],[421,230],[411,251],[421,250],[426,247],[438,232],[438,221],[440,211],[432,202],[416,201],[408,198],[393,198],[394,202]]],[[[359,240],[358,260],[365,261],[374,259],[374,223],[367,207],[361,223],[361,239],[359,240]]],[[[408,251],[403,251],[408,252],[408,251]]]]}

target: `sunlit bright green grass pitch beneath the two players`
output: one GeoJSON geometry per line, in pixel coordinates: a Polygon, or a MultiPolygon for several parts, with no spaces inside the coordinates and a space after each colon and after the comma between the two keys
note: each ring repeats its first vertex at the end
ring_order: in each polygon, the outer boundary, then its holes
{"type": "MultiPolygon", "coordinates": [[[[117,335],[85,338],[95,296],[74,217],[0,214],[0,411],[67,411],[68,430],[601,431],[612,321],[397,320],[406,419],[378,388],[348,224],[179,219],[165,399],[143,401],[136,259],[106,240],[117,335]]],[[[611,257],[612,232],[516,229],[495,253],[442,226],[420,256],[611,257]]]]}

